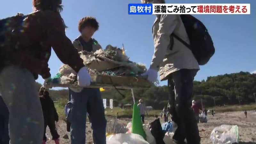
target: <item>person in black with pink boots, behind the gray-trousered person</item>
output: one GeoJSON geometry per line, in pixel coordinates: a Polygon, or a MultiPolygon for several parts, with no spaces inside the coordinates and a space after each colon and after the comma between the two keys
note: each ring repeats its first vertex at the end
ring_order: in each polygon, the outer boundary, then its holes
{"type": "Polygon", "coordinates": [[[59,138],[60,135],[58,134],[55,122],[59,121],[59,116],[57,114],[56,108],[54,106],[54,103],[49,96],[49,92],[44,89],[42,86],[39,91],[39,99],[41,102],[43,115],[44,115],[44,138],[43,138],[43,144],[46,143],[47,138],[45,136],[46,133],[46,127],[48,126],[50,128],[50,132],[52,134],[52,140],[55,141],[55,144],[59,144],[59,138]]]}

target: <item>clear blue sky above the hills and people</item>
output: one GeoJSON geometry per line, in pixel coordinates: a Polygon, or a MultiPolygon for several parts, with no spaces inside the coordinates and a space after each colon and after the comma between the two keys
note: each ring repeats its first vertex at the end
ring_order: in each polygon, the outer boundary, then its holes
{"type": "MultiPolygon", "coordinates": [[[[95,17],[100,25],[94,38],[105,48],[108,44],[124,48],[130,60],[149,67],[154,52],[152,25],[155,15],[128,15],[128,4],[140,0],[62,0],[62,18],[69,27],[66,35],[74,40],[79,32],[78,21],[84,16],[95,17]]],[[[166,3],[250,3],[250,15],[195,15],[208,28],[215,46],[215,54],[205,66],[200,66],[195,80],[225,73],[256,70],[256,1],[255,0],[166,0],[166,3]]],[[[32,12],[32,0],[3,1],[0,19],[17,12],[32,12]]],[[[62,63],[52,51],[49,60],[52,76],[62,63]]],[[[43,83],[39,77],[37,80],[43,83]]],[[[166,81],[160,85],[167,84],[166,81]]]]}

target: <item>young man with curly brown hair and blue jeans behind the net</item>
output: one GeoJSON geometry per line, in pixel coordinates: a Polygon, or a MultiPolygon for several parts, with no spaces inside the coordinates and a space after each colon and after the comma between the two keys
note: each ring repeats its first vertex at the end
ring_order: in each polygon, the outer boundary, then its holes
{"type": "MultiPolygon", "coordinates": [[[[95,52],[101,49],[100,44],[92,38],[99,24],[93,17],[84,17],[79,20],[78,30],[80,36],[73,45],[80,51],[95,52]]],[[[69,88],[71,96],[71,144],[85,144],[86,114],[91,122],[93,142],[95,144],[106,144],[105,109],[99,88],[69,88]]]]}

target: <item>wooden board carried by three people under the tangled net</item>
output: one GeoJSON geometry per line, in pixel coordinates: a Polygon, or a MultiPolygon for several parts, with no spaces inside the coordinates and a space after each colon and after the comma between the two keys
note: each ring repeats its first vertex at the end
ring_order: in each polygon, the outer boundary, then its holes
{"type": "MultiPolygon", "coordinates": [[[[152,84],[141,76],[108,76],[108,75],[91,75],[92,83],[90,88],[114,88],[131,89],[131,88],[150,88],[152,84]]],[[[70,87],[70,84],[54,84],[53,87],[70,87]]]]}

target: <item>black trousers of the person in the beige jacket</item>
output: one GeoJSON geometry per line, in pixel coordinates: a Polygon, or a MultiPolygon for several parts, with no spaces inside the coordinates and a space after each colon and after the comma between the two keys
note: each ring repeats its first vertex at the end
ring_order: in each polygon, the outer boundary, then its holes
{"type": "Polygon", "coordinates": [[[198,70],[181,69],[168,77],[169,104],[168,110],[172,121],[178,125],[173,139],[183,144],[185,138],[188,144],[200,144],[198,126],[191,109],[193,81],[198,70]]]}

